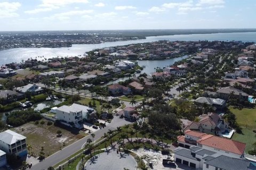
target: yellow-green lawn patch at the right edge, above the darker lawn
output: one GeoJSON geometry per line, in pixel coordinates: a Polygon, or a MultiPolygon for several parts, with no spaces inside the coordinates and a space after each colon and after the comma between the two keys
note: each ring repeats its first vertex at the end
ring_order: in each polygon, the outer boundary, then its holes
{"type": "Polygon", "coordinates": [[[238,109],[229,107],[229,109],[236,115],[236,121],[239,125],[256,129],[256,108],[238,109]]]}

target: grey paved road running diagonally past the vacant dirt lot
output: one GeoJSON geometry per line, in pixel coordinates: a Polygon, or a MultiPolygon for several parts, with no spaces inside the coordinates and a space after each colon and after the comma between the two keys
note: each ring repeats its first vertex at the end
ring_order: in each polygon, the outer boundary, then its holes
{"type": "MultiPolygon", "coordinates": [[[[104,133],[107,133],[109,129],[114,130],[117,126],[123,126],[125,124],[131,124],[131,122],[125,121],[124,119],[119,118],[118,116],[114,116],[114,119],[107,125],[106,128],[98,130],[94,132],[95,140],[100,139],[104,133]]],[[[78,150],[81,150],[83,144],[87,141],[88,138],[91,138],[90,135],[87,135],[81,140],[63,148],[62,150],[56,152],[55,154],[51,155],[50,157],[45,158],[42,162],[34,165],[31,167],[31,170],[43,170],[47,169],[49,166],[54,166],[61,162],[62,160],[68,158],[70,155],[75,154],[78,150]]]]}

